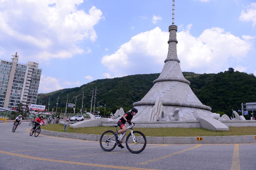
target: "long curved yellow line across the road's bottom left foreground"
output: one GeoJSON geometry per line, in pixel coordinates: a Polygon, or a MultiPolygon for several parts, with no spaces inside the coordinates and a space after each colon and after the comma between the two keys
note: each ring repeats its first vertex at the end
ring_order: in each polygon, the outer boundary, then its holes
{"type": "Polygon", "coordinates": [[[52,159],[47,159],[47,158],[40,158],[40,157],[32,157],[32,156],[28,156],[28,155],[14,154],[14,153],[5,152],[5,151],[0,151],[0,153],[7,154],[7,155],[12,155],[12,156],[17,156],[17,157],[24,157],[24,158],[34,159],[34,160],[43,160],[43,161],[50,161],[50,162],[57,162],[57,163],[68,163],[68,164],[75,164],[75,165],[95,166],[95,167],[115,168],[115,169],[153,170],[153,169],[145,169],[145,168],[125,167],[125,166],[101,165],[101,164],[92,164],[92,163],[71,162],[71,161],[64,161],[64,160],[52,160],[52,159]]]}

